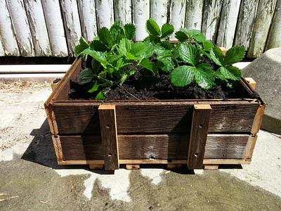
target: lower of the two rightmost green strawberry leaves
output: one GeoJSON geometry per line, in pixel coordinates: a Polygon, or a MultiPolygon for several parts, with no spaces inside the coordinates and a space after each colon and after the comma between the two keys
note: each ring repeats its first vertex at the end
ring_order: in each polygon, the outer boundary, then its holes
{"type": "Polygon", "coordinates": [[[216,71],[216,77],[222,80],[239,80],[242,77],[242,72],[233,66],[221,67],[216,71]]]}

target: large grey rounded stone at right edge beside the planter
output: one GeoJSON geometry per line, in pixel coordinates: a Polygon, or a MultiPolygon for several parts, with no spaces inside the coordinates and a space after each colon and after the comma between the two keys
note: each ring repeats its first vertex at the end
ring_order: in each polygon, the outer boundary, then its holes
{"type": "Polygon", "coordinates": [[[256,91],[268,103],[261,127],[281,134],[281,48],[266,51],[242,72],[256,81],[256,91]]]}

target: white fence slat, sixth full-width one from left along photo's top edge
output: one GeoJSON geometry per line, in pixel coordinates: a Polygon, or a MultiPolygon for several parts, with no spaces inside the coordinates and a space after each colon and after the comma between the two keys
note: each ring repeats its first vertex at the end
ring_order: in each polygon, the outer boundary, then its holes
{"type": "Polygon", "coordinates": [[[98,29],[110,28],[114,23],[113,0],[96,0],[96,14],[98,29]]]}

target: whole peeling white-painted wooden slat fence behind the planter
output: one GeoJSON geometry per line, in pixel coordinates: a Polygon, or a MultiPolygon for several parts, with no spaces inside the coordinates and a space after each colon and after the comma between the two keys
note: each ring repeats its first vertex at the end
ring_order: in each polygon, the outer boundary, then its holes
{"type": "Polygon", "coordinates": [[[80,36],[115,20],[134,23],[142,40],[148,18],[244,45],[249,58],[281,46],[281,0],[0,0],[0,56],[72,56],[80,36]]]}

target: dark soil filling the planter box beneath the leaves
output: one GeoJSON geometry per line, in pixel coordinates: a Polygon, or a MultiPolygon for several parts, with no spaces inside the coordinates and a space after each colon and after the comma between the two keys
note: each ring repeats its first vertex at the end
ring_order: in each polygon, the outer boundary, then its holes
{"type": "MultiPolygon", "coordinates": [[[[209,63],[215,70],[216,64],[208,58],[202,58],[200,62],[209,63]]],[[[89,61],[83,63],[82,68],[89,66],[89,61]]],[[[130,77],[122,87],[112,86],[107,93],[107,100],[169,100],[169,99],[216,99],[225,101],[228,98],[250,98],[249,94],[241,91],[240,82],[233,82],[233,89],[229,88],[226,82],[219,84],[212,89],[202,89],[195,82],[187,87],[174,87],[171,85],[169,75],[162,72],[159,77],[145,76],[140,66],[132,65],[127,68],[135,69],[136,74],[130,77]],[[144,84],[145,82],[145,84],[144,84]],[[151,84],[151,86],[148,86],[151,84]],[[150,87],[150,88],[148,88],[150,87]],[[237,91],[240,90],[240,91],[237,91]]],[[[77,82],[70,82],[70,99],[91,99],[97,93],[90,94],[92,84],[81,86],[77,82]]]]}

